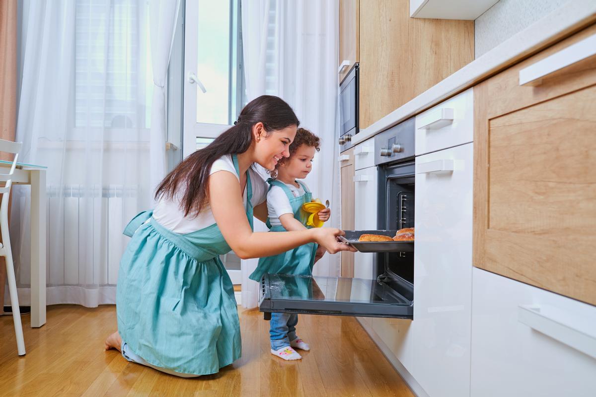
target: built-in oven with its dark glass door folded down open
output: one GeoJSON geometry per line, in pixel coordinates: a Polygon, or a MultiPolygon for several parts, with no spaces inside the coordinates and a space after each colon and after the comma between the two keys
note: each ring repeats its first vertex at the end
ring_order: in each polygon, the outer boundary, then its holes
{"type": "MultiPolygon", "coordinates": [[[[376,186],[374,198],[377,229],[414,226],[414,118],[379,133],[374,139],[376,186]]],[[[358,177],[358,176],[357,176],[358,177]]],[[[364,176],[362,176],[364,180],[364,176]]],[[[363,192],[366,193],[366,192],[363,192]]],[[[356,202],[358,206],[358,200],[356,202]]],[[[414,252],[378,252],[355,258],[355,273],[361,277],[321,277],[265,274],[260,281],[259,309],[265,318],[271,312],[353,315],[358,317],[414,317],[414,252]],[[370,256],[368,256],[370,255],[370,256]]]]}

